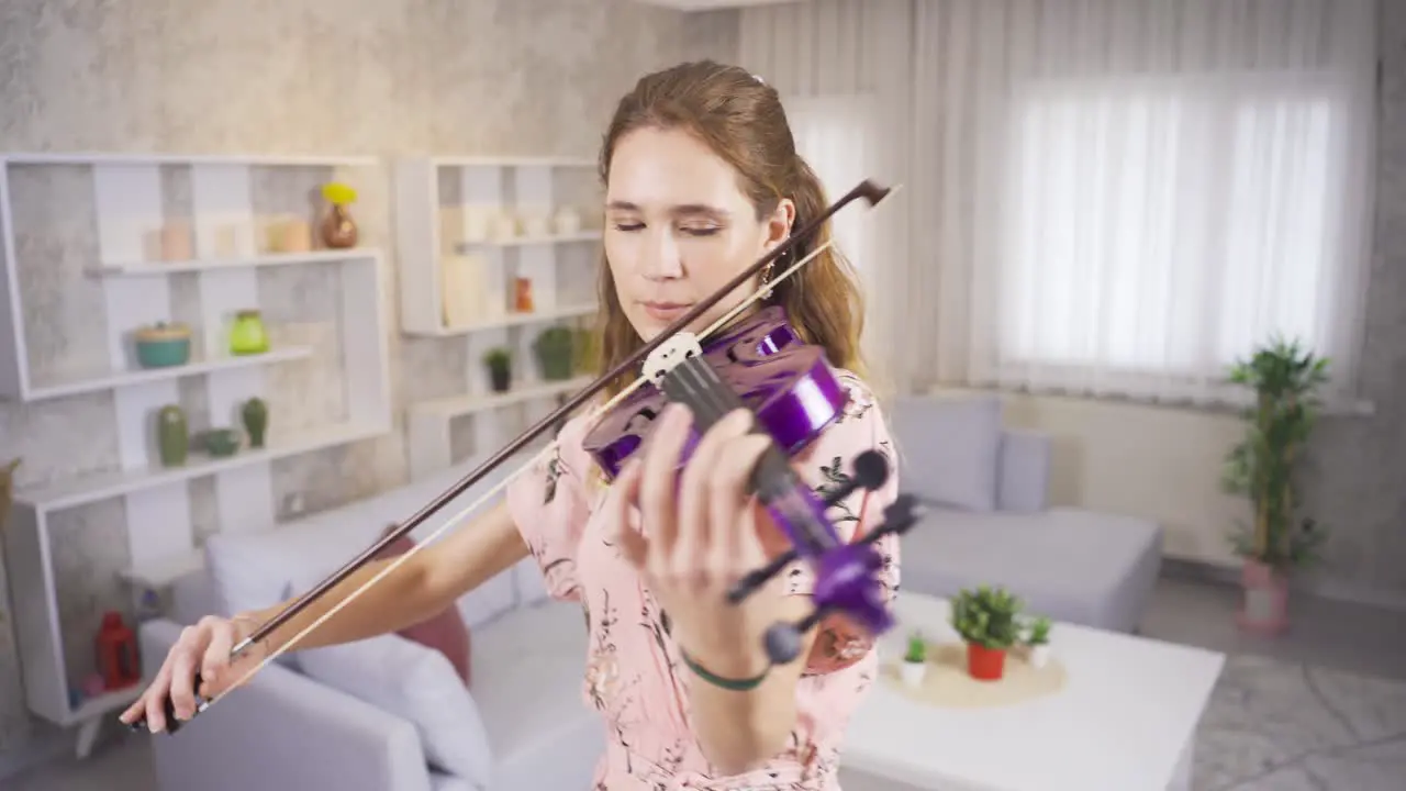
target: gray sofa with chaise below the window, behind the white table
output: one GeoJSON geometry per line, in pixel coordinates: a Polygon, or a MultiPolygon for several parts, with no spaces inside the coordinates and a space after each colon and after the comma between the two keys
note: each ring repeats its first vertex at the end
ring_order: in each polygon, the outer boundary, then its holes
{"type": "Polygon", "coordinates": [[[1049,507],[1050,438],[1010,429],[987,394],[889,405],[904,491],[928,517],[903,538],[903,590],[1000,584],[1056,621],[1136,632],[1161,567],[1153,521],[1049,507]]]}

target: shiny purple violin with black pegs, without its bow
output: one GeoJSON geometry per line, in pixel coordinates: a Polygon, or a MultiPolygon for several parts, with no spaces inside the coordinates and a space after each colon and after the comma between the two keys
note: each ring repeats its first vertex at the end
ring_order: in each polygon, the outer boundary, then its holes
{"type": "Polygon", "coordinates": [[[665,401],[679,401],[693,414],[682,467],[713,424],[745,407],[773,441],[754,472],[752,487],[792,549],[744,577],[730,598],[741,601],[796,560],[813,567],[814,611],[799,624],[776,624],[766,633],[766,653],[778,664],[794,660],[801,635],[831,612],[844,612],[875,635],[887,631],[891,616],[876,578],[883,559],[873,542],[914,524],[911,498],[897,498],[883,525],[845,543],[825,512],[859,487],[883,486],[889,477],[883,455],[866,450],[856,456],[846,486],[824,498],[787,462],[841,417],[848,400],[824,350],[804,343],[779,305],[752,314],[703,346],[692,343],[692,336],[679,335],[645,362],[652,384],[641,386],[595,425],[583,442],[586,452],[614,479],[626,459],[644,446],[665,401]]]}

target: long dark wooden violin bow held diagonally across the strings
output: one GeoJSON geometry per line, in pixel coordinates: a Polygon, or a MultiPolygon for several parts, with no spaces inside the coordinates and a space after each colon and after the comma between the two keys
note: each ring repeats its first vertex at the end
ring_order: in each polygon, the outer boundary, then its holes
{"type": "MultiPolygon", "coordinates": [[[[790,236],[787,236],[787,239],[785,242],[782,242],[780,245],[772,248],[766,255],[763,255],[762,258],[756,259],[756,262],[754,262],[751,266],[748,266],[747,269],[744,269],[742,272],[740,272],[735,277],[733,277],[728,283],[725,283],[724,286],[721,286],[713,294],[710,294],[710,296],[704,297],[703,300],[697,301],[683,315],[681,315],[679,318],[673,319],[672,324],[669,324],[664,331],[661,331],[658,335],[655,335],[651,341],[647,341],[644,343],[644,346],[641,346],[640,349],[637,349],[627,359],[621,360],[613,369],[610,369],[609,372],[606,372],[602,376],[599,376],[595,381],[592,381],[591,384],[588,384],[583,388],[581,388],[579,391],[576,391],[565,403],[560,404],[555,410],[553,410],[551,414],[548,414],[547,417],[541,418],[534,425],[531,425],[527,431],[524,431],[523,434],[520,434],[516,439],[513,439],[512,442],[509,442],[508,445],[505,445],[503,448],[501,448],[499,450],[496,450],[491,457],[488,457],[488,460],[482,462],[478,467],[475,467],[467,476],[464,476],[463,479],[460,479],[458,483],[456,483],[454,486],[451,486],[450,488],[447,488],[446,491],[443,491],[439,497],[436,497],[434,500],[432,500],[430,502],[427,502],[423,508],[420,508],[413,515],[411,515],[409,519],[406,519],[405,522],[402,522],[394,531],[389,531],[384,536],[381,536],[368,549],[366,549],[364,552],[361,552],[361,555],[359,555],[359,556],[353,557],[352,560],[349,560],[340,569],[337,569],[336,571],[333,571],[332,574],[329,574],[326,578],[323,578],[321,583],[318,583],[316,586],[314,586],[312,590],[309,590],[308,593],[305,593],[301,597],[298,597],[297,600],[294,600],[292,604],[290,604],[288,607],[285,607],[284,609],[281,609],[277,615],[274,615],[269,621],[266,621],[262,625],[259,625],[253,631],[253,633],[250,633],[247,638],[245,638],[238,645],[235,645],[233,649],[231,649],[231,652],[229,652],[231,656],[232,657],[238,657],[238,656],[243,654],[245,652],[247,652],[254,645],[259,645],[263,640],[266,640],[269,638],[269,635],[271,635],[280,626],[283,626],[284,624],[287,624],[288,621],[291,621],[292,618],[295,618],[299,612],[302,612],[309,605],[312,605],[312,602],[315,602],[319,598],[322,598],[323,595],[326,595],[328,591],[330,591],[332,588],[335,588],[336,586],[339,586],[347,577],[350,577],[352,574],[354,574],[359,569],[361,569],[363,566],[366,566],[367,563],[370,563],[377,555],[380,555],[391,543],[394,543],[395,540],[398,540],[402,536],[405,536],[405,535],[411,533],[412,531],[415,531],[418,526],[420,526],[422,524],[425,524],[426,519],[429,519],[430,517],[433,517],[434,514],[437,514],[440,510],[443,510],[446,505],[449,505],[460,494],[463,494],[470,487],[472,487],[474,484],[477,484],[478,481],[481,481],[485,476],[488,476],[489,473],[492,473],[495,469],[498,469],[501,464],[503,464],[508,459],[510,459],[519,450],[522,450],[523,448],[526,448],[527,443],[530,443],[533,439],[537,439],[544,432],[547,432],[554,425],[557,425],[560,421],[562,421],[567,415],[569,415],[571,412],[574,412],[575,410],[578,410],[582,404],[585,404],[588,400],[591,400],[596,393],[599,393],[600,390],[603,390],[610,381],[614,381],[617,377],[620,377],[621,374],[624,374],[627,370],[630,370],[633,367],[637,367],[655,349],[658,349],[659,346],[662,346],[664,343],[666,343],[671,338],[673,338],[681,331],[683,331],[685,328],[688,328],[688,325],[690,322],[693,322],[697,317],[703,315],[703,312],[706,312],[709,308],[711,308],[718,301],[721,301],[723,297],[725,297],[727,294],[733,293],[733,290],[738,289],[740,286],[742,286],[744,283],[747,283],[748,280],[751,280],[756,273],[759,273],[762,270],[762,267],[765,267],[766,265],[775,262],[780,256],[783,256],[787,252],[790,252],[792,249],[794,249],[803,239],[810,238],[811,235],[814,235],[824,225],[824,222],[827,220],[830,220],[841,208],[844,208],[844,207],[849,205],[851,203],[853,203],[855,200],[860,200],[860,198],[863,201],[866,201],[869,204],[869,207],[872,208],[875,205],[879,205],[886,197],[889,197],[890,194],[893,194],[900,187],[882,187],[882,186],[876,184],[875,182],[869,180],[869,179],[865,179],[863,182],[860,182],[852,190],[849,190],[848,193],[845,193],[839,200],[837,200],[835,203],[830,204],[823,213],[820,213],[818,217],[814,217],[814,218],[808,220],[799,231],[793,231],[790,234],[790,236]]],[[[813,249],[808,255],[806,255],[804,258],[799,259],[797,262],[794,262],[793,265],[790,265],[789,267],[786,267],[785,270],[782,270],[782,273],[776,274],[769,283],[766,283],[765,286],[762,286],[761,289],[758,289],[756,291],[754,291],[749,297],[747,297],[745,300],[742,300],[741,303],[738,303],[727,314],[724,314],[717,321],[714,321],[703,334],[699,335],[699,339],[707,338],[709,335],[711,335],[713,332],[716,332],[718,328],[725,327],[747,305],[755,303],[756,300],[761,300],[763,297],[763,294],[768,293],[769,289],[773,289],[778,283],[780,283],[782,280],[785,280],[786,277],[789,277],[790,274],[793,274],[794,272],[797,272],[806,263],[810,263],[811,260],[814,260],[820,253],[823,253],[824,251],[830,249],[832,245],[834,245],[834,239],[830,239],[830,241],[825,241],[821,245],[817,245],[815,249],[813,249]]],[[[600,414],[605,414],[605,412],[610,411],[616,404],[619,404],[620,401],[623,401],[624,398],[627,398],[631,393],[634,393],[636,390],[638,390],[641,386],[644,386],[648,381],[650,381],[650,379],[645,377],[645,376],[636,377],[634,381],[631,381],[631,384],[627,386],[621,393],[619,393],[617,396],[614,396],[613,398],[610,398],[609,401],[606,401],[605,404],[602,404],[600,407],[598,407],[593,412],[591,412],[591,417],[595,418],[596,415],[600,415],[600,414]]],[[[332,607],[330,609],[328,609],[328,612],[322,614],[316,621],[314,621],[312,624],[307,625],[302,631],[299,631],[297,635],[294,635],[292,638],[290,638],[288,640],[285,640],[281,646],[278,646],[277,649],[269,652],[269,654],[264,656],[259,662],[259,664],[256,664],[254,667],[252,667],[247,671],[245,671],[245,674],[240,676],[238,681],[235,681],[233,684],[231,684],[229,687],[226,687],[224,691],[218,692],[215,697],[204,700],[204,698],[201,698],[198,695],[200,685],[201,685],[201,677],[197,673],[195,674],[195,680],[194,680],[194,687],[195,687],[195,691],[197,691],[195,715],[200,715],[200,714],[205,712],[207,709],[209,709],[209,707],[212,707],[217,702],[219,702],[225,695],[228,695],[229,692],[238,690],[239,687],[243,687],[250,678],[253,678],[253,676],[256,676],[260,670],[263,670],[269,663],[277,660],[284,653],[292,650],[294,646],[297,646],[309,633],[312,633],[314,631],[316,631],[318,628],[321,628],[333,615],[336,615],[337,612],[340,612],[342,608],[344,608],[346,605],[349,605],[353,601],[356,601],[366,591],[371,590],[371,587],[374,587],[377,583],[380,583],[388,574],[391,574],[392,571],[395,571],[402,563],[405,563],[411,557],[413,557],[416,552],[419,552],[425,546],[432,545],[440,535],[443,535],[446,531],[449,531],[449,528],[451,528],[454,525],[458,525],[468,514],[471,514],[472,511],[477,511],[484,502],[486,502],[489,498],[495,497],[502,488],[505,488],[508,484],[510,484],[517,476],[520,476],[523,472],[531,469],[537,462],[540,462],[543,457],[546,457],[548,453],[551,453],[553,449],[555,449],[555,446],[557,446],[558,442],[560,442],[558,439],[553,439],[551,442],[548,442],[541,450],[537,452],[537,455],[534,455],[531,459],[529,459],[526,463],[523,463],[520,467],[517,467],[517,470],[515,470],[508,477],[505,477],[503,480],[501,480],[498,484],[495,484],[494,487],[491,487],[488,491],[485,491],[482,495],[479,495],[474,502],[471,502],[467,507],[464,507],[464,510],[460,511],[453,519],[447,519],[443,525],[440,525],[439,528],[436,528],[429,536],[425,538],[425,540],[415,542],[413,546],[411,546],[405,553],[396,556],[391,563],[388,563],[385,569],[382,569],[374,577],[371,577],[370,580],[367,580],[366,583],[363,583],[361,586],[359,586],[356,590],[353,590],[352,593],[349,593],[342,601],[339,601],[335,607],[332,607]]],[[[138,719],[132,721],[132,723],[128,725],[128,728],[131,728],[132,730],[141,730],[142,726],[143,726],[143,722],[145,722],[145,718],[138,718],[138,719]]],[[[181,726],[180,721],[177,721],[176,716],[174,716],[173,705],[170,702],[170,698],[167,698],[167,701],[166,701],[166,732],[173,735],[173,733],[176,733],[176,730],[180,729],[180,726],[181,726]]]]}

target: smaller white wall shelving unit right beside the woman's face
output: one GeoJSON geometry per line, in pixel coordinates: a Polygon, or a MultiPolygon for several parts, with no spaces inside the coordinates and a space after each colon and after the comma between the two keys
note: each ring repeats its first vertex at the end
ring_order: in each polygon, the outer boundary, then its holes
{"type": "Polygon", "coordinates": [[[596,162],[561,158],[440,156],[395,167],[401,329],[463,339],[463,394],[411,404],[411,476],[456,463],[456,424],[472,419],[460,456],[478,456],[546,415],[589,379],[547,381],[533,341],[548,325],[596,314],[600,197],[596,162]],[[561,218],[568,210],[574,218],[561,218]],[[574,220],[574,221],[572,221],[574,220]],[[517,279],[531,311],[515,305],[517,279]],[[484,355],[508,348],[513,384],[495,393],[484,355]]]}

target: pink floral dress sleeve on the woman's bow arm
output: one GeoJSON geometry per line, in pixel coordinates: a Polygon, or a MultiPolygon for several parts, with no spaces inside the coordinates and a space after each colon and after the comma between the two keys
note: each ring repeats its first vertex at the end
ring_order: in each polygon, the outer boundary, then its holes
{"type": "Polygon", "coordinates": [[[586,459],[579,421],[560,432],[557,448],[508,484],[508,510],[541,570],[547,593],[578,601],[576,549],[589,517],[586,459]]]}

